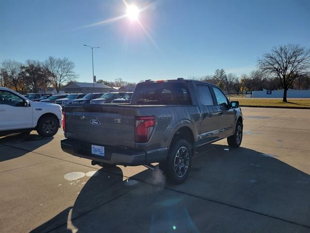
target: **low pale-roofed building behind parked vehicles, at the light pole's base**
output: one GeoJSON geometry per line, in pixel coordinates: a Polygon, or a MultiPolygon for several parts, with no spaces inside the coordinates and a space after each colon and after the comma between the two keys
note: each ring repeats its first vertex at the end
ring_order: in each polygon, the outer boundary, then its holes
{"type": "Polygon", "coordinates": [[[93,88],[93,83],[69,83],[62,88],[62,91],[65,93],[95,93],[95,92],[111,92],[114,89],[103,84],[103,83],[94,83],[95,87],[93,88]]]}

